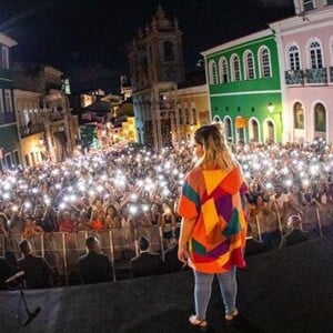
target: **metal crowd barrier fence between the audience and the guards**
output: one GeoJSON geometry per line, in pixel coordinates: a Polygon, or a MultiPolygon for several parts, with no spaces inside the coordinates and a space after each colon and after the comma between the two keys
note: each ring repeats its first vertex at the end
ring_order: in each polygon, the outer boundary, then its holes
{"type": "MultiPolygon", "coordinates": [[[[333,226],[333,208],[330,205],[309,205],[303,208],[302,228],[310,232],[312,238],[323,236],[333,226]]],[[[281,219],[279,212],[270,211],[260,213],[250,219],[253,238],[261,241],[262,234],[271,230],[278,230],[281,234],[286,231],[286,219],[281,219]]],[[[147,236],[151,249],[161,253],[164,259],[165,240],[161,226],[121,228],[108,231],[79,231],[74,233],[50,232],[41,233],[29,239],[34,254],[48,260],[50,265],[63,276],[64,284],[70,284],[70,276],[79,273],[78,261],[80,255],[87,253],[85,239],[95,235],[100,240],[100,249],[112,262],[113,280],[118,280],[118,273],[122,269],[129,269],[132,258],[139,254],[138,240],[147,236]]],[[[11,234],[10,239],[0,235],[0,253],[13,253],[16,259],[21,256],[19,242],[21,234],[11,234]]]]}

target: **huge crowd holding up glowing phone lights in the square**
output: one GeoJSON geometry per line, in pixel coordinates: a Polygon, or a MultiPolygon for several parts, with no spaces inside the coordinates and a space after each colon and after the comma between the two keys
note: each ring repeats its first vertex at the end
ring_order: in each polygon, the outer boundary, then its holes
{"type": "MultiPolygon", "coordinates": [[[[279,248],[290,216],[310,236],[332,228],[333,148],[304,144],[230,144],[249,184],[246,219],[265,251],[279,248]]],[[[173,244],[181,216],[178,200],[193,149],[143,147],[98,151],[61,164],[16,168],[0,173],[2,253],[20,239],[40,234],[161,228],[173,244]]],[[[18,260],[18,259],[17,259],[18,260]]]]}

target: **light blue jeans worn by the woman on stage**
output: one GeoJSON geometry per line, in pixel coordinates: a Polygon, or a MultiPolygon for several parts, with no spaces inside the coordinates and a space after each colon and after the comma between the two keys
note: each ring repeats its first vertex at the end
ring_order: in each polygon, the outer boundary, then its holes
{"type": "Polygon", "coordinates": [[[226,273],[209,274],[194,271],[194,302],[195,314],[200,320],[205,320],[206,309],[211,299],[212,282],[218,276],[220,291],[222,294],[225,314],[235,310],[235,300],[238,293],[236,268],[233,266],[226,273]]]}

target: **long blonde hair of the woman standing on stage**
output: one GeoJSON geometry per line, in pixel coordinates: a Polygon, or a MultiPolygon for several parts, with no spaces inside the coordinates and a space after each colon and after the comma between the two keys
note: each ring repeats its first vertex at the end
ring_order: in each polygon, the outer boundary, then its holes
{"type": "Polygon", "coordinates": [[[203,125],[194,133],[194,140],[202,145],[203,155],[196,167],[230,169],[235,165],[233,155],[225,143],[224,137],[215,124],[203,125]]]}

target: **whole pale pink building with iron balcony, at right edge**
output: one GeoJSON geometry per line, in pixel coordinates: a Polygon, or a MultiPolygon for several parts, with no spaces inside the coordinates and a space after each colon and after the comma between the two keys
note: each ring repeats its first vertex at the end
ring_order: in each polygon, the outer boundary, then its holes
{"type": "Polygon", "coordinates": [[[284,141],[333,142],[333,0],[294,0],[276,33],[284,141]]]}

